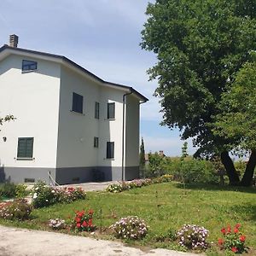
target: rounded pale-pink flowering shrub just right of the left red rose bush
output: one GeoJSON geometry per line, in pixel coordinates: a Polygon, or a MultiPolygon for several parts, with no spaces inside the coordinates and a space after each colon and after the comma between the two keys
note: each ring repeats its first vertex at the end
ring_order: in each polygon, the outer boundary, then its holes
{"type": "Polygon", "coordinates": [[[148,226],[142,218],[128,216],[110,226],[114,236],[125,239],[142,239],[148,233],[148,226]]]}

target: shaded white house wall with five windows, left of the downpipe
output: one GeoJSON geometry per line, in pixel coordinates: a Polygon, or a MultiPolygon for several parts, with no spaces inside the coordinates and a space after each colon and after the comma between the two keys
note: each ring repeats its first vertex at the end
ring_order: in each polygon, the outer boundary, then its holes
{"type": "Polygon", "coordinates": [[[57,167],[121,166],[123,90],[102,86],[67,67],[61,68],[61,108],[57,167]],[[84,96],[84,113],[74,113],[73,92],[84,96]],[[95,119],[95,102],[100,118],[95,119]],[[108,102],[115,102],[115,119],[107,119],[108,102]],[[99,137],[99,148],[93,139],[99,137]],[[114,160],[107,160],[107,142],[114,142],[114,160]]]}

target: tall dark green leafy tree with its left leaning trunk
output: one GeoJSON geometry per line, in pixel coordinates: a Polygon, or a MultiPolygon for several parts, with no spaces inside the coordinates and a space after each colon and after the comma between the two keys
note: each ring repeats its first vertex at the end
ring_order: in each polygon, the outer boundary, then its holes
{"type": "Polygon", "coordinates": [[[218,102],[236,72],[256,49],[255,0],[156,0],[148,3],[143,49],[158,61],[148,70],[158,79],[162,125],[194,138],[195,156],[220,154],[230,183],[239,176],[230,159],[232,138],[212,132],[218,102]]]}

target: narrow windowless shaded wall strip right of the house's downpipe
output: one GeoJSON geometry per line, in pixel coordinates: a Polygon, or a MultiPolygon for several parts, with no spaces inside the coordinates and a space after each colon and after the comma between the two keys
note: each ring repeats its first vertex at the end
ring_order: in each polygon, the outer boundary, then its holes
{"type": "Polygon", "coordinates": [[[139,108],[136,96],[126,96],[125,166],[139,166],[139,108]]]}

